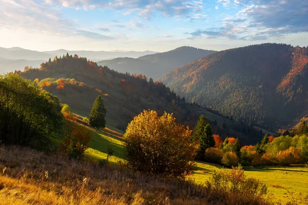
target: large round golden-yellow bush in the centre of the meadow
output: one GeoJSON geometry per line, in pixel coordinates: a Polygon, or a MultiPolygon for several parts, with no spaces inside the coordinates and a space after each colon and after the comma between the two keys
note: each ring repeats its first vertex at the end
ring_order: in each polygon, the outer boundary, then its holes
{"type": "Polygon", "coordinates": [[[141,172],[182,177],[191,173],[195,149],[191,131],[166,112],[144,110],[134,117],[125,133],[128,164],[141,172]]]}

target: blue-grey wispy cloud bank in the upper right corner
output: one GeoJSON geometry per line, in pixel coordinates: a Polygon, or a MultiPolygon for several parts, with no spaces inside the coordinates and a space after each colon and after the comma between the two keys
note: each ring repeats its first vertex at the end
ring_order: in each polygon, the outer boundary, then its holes
{"type": "Polygon", "coordinates": [[[222,20],[217,28],[197,29],[190,32],[189,39],[201,36],[207,38],[227,37],[242,40],[266,40],[270,37],[308,32],[308,2],[301,0],[218,0],[229,8],[241,6],[234,16],[222,20]]]}

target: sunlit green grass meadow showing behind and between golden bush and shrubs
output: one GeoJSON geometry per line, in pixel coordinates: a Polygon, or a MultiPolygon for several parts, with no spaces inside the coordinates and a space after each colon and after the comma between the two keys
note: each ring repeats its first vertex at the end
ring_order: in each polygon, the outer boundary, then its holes
{"type": "MultiPolygon", "coordinates": [[[[121,137],[113,136],[101,131],[94,132],[93,140],[90,143],[91,148],[86,151],[86,155],[100,159],[107,158],[107,147],[114,150],[111,162],[124,160],[123,141],[121,137]]],[[[223,167],[205,163],[196,162],[198,170],[189,179],[196,183],[204,183],[213,173],[225,170],[223,167]]],[[[292,201],[292,198],[299,199],[300,193],[308,195],[308,169],[303,165],[292,167],[245,167],[245,174],[249,177],[260,179],[267,185],[269,196],[273,201],[285,204],[292,201]],[[293,196],[292,196],[293,195],[293,196]]],[[[300,201],[297,201],[298,204],[300,201]]]]}

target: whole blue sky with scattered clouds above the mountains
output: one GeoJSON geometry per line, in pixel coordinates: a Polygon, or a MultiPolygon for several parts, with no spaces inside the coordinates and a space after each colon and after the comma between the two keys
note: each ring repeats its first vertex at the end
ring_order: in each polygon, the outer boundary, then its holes
{"type": "Polygon", "coordinates": [[[224,50],[308,46],[307,0],[0,0],[0,47],[224,50]]]}

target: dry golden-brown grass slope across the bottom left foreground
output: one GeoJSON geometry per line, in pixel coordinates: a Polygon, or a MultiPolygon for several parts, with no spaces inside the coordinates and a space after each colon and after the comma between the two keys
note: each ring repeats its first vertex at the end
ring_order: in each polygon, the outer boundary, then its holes
{"type": "MultiPolygon", "coordinates": [[[[0,204],[227,204],[230,197],[192,181],[141,174],[124,166],[0,147],[0,204]]],[[[239,198],[229,204],[268,203],[239,198]]]]}

